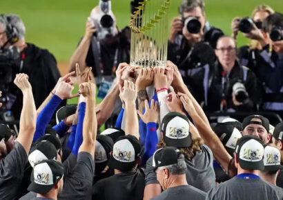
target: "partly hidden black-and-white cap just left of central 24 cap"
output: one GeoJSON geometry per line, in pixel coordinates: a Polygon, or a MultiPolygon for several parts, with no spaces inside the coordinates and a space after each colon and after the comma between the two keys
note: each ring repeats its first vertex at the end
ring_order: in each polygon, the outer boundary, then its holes
{"type": "Polygon", "coordinates": [[[95,173],[99,173],[106,167],[110,152],[113,150],[113,140],[104,134],[98,134],[95,141],[95,173]]]}

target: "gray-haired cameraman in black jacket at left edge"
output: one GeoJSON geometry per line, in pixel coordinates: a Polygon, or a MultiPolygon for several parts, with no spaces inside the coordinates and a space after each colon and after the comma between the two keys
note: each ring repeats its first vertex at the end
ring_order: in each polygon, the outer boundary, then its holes
{"type": "Polygon", "coordinates": [[[1,112],[12,110],[15,119],[19,119],[22,107],[21,92],[12,85],[11,81],[15,74],[19,72],[28,74],[37,108],[60,77],[55,57],[48,50],[38,48],[32,43],[26,43],[25,34],[26,28],[17,14],[1,14],[0,70],[1,74],[5,74],[5,77],[8,78],[1,80],[3,83],[1,86],[6,87],[6,91],[3,90],[2,94],[2,98],[5,98],[6,101],[3,101],[1,112]]]}

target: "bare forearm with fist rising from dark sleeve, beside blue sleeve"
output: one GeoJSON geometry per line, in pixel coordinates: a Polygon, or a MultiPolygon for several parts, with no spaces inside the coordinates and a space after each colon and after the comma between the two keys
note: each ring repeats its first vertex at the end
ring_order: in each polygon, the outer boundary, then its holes
{"type": "Polygon", "coordinates": [[[83,125],[83,143],[79,152],[88,152],[95,157],[95,141],[97,136],[97,116],[95,113],[95,84],[81,83],[81,94],[86,98],[86,114],[83,125]]]}

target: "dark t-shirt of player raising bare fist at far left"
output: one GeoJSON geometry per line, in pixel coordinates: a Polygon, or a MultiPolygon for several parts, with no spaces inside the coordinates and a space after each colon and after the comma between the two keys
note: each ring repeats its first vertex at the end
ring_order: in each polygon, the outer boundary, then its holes
{"type": "Polygon", "coordinates": [[[12,151],[0,162],[0,199],[19,199],[21,179],[28,161],[26,150],[16,142],[12,151]]]}

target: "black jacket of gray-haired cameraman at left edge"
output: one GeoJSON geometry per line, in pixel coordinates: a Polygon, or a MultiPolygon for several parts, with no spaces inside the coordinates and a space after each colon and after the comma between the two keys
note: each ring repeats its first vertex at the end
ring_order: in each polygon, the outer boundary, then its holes
{"type": "MultiPolygon", "coordinates": [[[[39,108],[41,103],[46,99],[50,91],[56,85],[61,77],[57,68],[55,57],[46,49],[41,49],[32,43],[27,43],[28,47],[21,52],[23,58],[23,68],[17,73],[28,74],[32,94],[35,97],[35,106],[39,108]]],[[[21,107],[23,105],[23,94],[18,88],[11,84],[11,90],[16,95],[17,100],[12,106],[12,112],[16,119],[19,119],[21,107]]],[[[66,103],[66,101],[64,101],[66,103]]],[[[62,105],[64,104],[62,103],[62,105]]]]}

